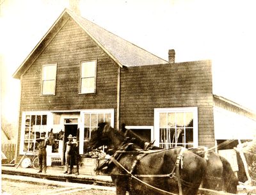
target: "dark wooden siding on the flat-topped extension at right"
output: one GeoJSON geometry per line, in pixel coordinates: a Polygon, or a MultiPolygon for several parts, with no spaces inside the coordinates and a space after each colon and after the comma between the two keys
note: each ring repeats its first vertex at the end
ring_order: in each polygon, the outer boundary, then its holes
{"type": "Polygon", "coordinates": [[[154,125],[154,108],[198,107],[198,141],[214,145],[211,61],[125,67],[120,118],[125,125],[154,125]]]}

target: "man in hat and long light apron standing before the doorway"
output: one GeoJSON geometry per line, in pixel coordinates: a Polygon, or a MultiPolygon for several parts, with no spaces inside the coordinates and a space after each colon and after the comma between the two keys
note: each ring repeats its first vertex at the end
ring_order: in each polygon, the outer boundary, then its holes
{"type": "Polygon", "coordinates": [[[70,134],[68,135],[68,141],[65,143],[63,148],[65,153],[65,172],[67,174],[72,174],[73,163],[72,163],[72,152],[73,152],[73,136],[70,134]],[[70,170],[68,171],[68,166],[70,166],[70,170]]]}

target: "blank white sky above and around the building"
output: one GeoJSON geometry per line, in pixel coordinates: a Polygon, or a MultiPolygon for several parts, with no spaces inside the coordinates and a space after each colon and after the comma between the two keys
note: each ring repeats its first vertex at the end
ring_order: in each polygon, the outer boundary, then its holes
{"type": "MultiPolygon", "coordinates": [[[[12,75],[68,0],[0,0],[1,114],[18,121],[12,75]]],[[[82,17],[175,62],[211,59],[213,93],[256,112],[253,0],[80,0],[82,17]]]]}

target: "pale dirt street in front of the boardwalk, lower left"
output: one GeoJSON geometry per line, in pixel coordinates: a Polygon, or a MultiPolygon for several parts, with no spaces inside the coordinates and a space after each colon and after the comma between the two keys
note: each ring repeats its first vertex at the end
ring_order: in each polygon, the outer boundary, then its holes
{"type": "MultiPolygon", "coordinates": [[[[70,194],[68,188],[56,185],[45,185],[32,182],[17,182],[2,178],[2,195],[44,195],[44,194],[70,194]]],[[[72,195],[115,195],[113,191],[72,189],[72,195]]]]}

